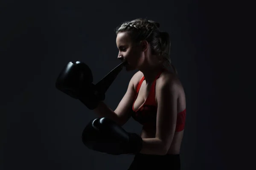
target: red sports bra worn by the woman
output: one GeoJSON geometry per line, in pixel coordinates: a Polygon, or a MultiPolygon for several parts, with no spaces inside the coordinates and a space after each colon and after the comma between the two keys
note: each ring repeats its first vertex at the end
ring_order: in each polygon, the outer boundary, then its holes
{"type": "MultiPolygon", "coordinates": [[[[133,110],[132,117],[135,121],[139,122],[141,125],[156,126],[157,103],[155,100],[155,85],[156,85],[156,80],[160,77],[162,73],[163,71],[160,71],[160,73],[157,74],[157,77],[154,79],[154,82],[151,85],[148,97],[144,102],[144,104],[137,110],[134,110],[134,103],[132,105],[132,110],[133,110]]],[[[135,97],[135,100],[137,99],[137,96],[143,81],[144,81],[144,76],[142,77],[139,84],[137,85],[137,89],[136,89],[137,95],[135,97]]],[[[186,119],[186,109],[184,109],[182,112],[177,114],[177,123],[176,123],[176,129],[175,129],[176,132],[179,132],[184,129],[185,119],[186,119]]]]}

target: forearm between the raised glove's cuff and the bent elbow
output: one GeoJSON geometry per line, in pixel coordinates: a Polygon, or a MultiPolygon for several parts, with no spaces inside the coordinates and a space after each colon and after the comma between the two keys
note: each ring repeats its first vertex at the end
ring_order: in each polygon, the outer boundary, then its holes
{"type": "Polygon", "coordinates": [[[117,114],[109,108],[103,101],[99,102],[96,109],[93,110],[99,118],[107,117],[120,125],[120,120],[117,114]]]}

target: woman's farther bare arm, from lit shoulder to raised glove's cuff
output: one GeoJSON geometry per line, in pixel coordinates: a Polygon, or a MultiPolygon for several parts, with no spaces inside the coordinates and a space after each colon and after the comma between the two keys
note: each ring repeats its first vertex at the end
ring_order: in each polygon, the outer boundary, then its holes
{"type": "Polygon", "coordinates": [[[100,102],[98,107],[93,111],[99,117],[107,117],[109,119],[112,119],[120,126],[124,125],[131,117],[132,105],[136,97],[134,83],[137,81],[139,76],[140,74],[139,72],[137,72],[131,78],[127,91],[123,96],[122,100],[119,102],[119,105],[117,106],[115,111],[109,108],[104,102],[100,102]]]}

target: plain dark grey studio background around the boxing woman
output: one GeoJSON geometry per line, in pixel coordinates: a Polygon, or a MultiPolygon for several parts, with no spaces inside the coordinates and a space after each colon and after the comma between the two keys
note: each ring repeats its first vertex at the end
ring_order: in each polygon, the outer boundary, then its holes
{"type": "MultiPolygon", "coordinates": [[[[255,90],[253,66],[241,50],[243,9],[195,0],[1,1],[0,169],[128,168],[133,156],[84,147],[81,132],[96,115],[57,91],[55,79],[67,62],[79,60],[98,82],[119,64],[114,29],[139,17],[159,22],[172,39],[187,99],[182,170],[251,169],[255,90]]],[[[105,102],[112,109],[134,73],[122,71],[109,88],[105,102]]],[[[133,119],[124,128],[141,130],[133,119]]]]}

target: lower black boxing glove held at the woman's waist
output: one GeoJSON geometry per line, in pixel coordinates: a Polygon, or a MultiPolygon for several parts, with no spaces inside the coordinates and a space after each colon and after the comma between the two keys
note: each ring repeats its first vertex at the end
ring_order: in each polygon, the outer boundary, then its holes
{"type": "Polygon", "coordinates": [[[111,119],[97,118],[83,130],[82,142],[86,147],[111,155],[136,154],[142,148],[142,138],[128,133],[111,119]]]}

